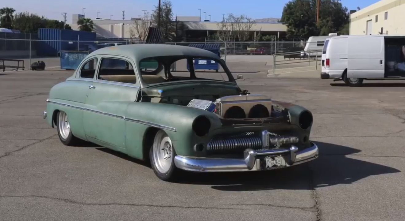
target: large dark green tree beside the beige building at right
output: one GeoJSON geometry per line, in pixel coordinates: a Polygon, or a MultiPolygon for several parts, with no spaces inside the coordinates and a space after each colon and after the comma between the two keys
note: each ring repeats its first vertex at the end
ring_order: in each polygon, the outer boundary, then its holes
{"type": "Polygon", "coordinates": [[[316,23],[316,0],[291,0],[283,8],[281,21],[288,27],[287,37],[308,38],[338,32],[349,23],[349,14],[338,0],[322,0],[316,23]]]}

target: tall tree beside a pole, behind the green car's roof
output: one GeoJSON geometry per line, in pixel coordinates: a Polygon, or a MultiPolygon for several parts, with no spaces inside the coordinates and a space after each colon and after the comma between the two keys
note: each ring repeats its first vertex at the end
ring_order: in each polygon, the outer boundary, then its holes
{"type": "MultiPolygon", "coordinates": [[[[175,38],[175,24],[173,22],[172,2],[170,0],[163,0],[160,6],[160,28],[163,30],[163,40],[173,40],[175,38]]],[[[159,7],[155,6],[152,13],[153,26],[158,27],[159,20],[159,7]]]]}

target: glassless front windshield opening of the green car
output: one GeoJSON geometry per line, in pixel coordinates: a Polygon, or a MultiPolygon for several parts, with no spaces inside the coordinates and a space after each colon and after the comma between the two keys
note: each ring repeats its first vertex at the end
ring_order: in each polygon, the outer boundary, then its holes
{"type": "Polygon", "coordinates": [[[219,61],[199,57],[152,57],[141,60],[139,69],[146,84],[184,80],[234,80],[219,61]]]}

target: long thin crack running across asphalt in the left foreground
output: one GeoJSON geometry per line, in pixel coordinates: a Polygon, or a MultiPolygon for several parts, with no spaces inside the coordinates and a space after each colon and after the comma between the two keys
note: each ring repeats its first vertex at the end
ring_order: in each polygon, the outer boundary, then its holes
{"type": "Polygon", "coordinates": [[[0,198],[42,198],[48,200],[58,200],[63,201],[66,203],[72,204],[79,204],[79,205],[87,205],[87,206],[148,206],[148,207],[161,207],[161,208],[184,208],[184,209],[219,209],[219,210],[245,210],[241,208],[221,208],[221,207],[206,207],[206,206],[172,206],[172,205],[156,205],[156,204],[136,204],[136,203],[86,203],[80,202],[76,200],[64,199],[64,198],[57,198],[57,197],[49,197],[49,196],[36,196],[36,195],[25,195],[25,196],[11,196],[11,195],[3,195],[0,198]]]}

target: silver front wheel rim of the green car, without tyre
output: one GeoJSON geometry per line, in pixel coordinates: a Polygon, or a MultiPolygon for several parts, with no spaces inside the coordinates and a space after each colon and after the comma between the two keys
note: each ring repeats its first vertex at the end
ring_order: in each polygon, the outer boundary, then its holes
{"type": "Polygon", "coordinates": [[[160,130],[153,140],[152,157],[159,173],[168,173],[173,164],[173,145],[170,137],[160,130]]]}

